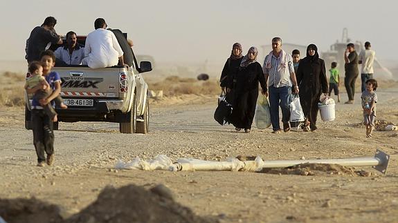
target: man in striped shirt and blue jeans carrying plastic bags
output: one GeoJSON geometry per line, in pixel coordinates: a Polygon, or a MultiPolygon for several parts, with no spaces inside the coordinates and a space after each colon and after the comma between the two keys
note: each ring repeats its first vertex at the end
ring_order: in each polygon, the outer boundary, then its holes
{"type": "MultiPolygon", "coordinates": [[[[288,132],[290,130],[291,87],[293,84],[293,93],[298,94],[298,84],[294,73],[293,59],[291,55],[282,50],[282,39],[280,37],[272,39],[272,51],[264,59],[263,71],[269,86],[273,133],[280,133],[279,106],[282,109],[283,130],[288,132]]],[[[265,95],[267,96],[268,93],[265,95]]]]}

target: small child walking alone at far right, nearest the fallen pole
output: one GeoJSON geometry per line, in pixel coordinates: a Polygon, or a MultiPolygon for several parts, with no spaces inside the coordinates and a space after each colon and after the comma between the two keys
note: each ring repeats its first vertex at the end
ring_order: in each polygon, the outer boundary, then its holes
{"type": "Polygon", "coordinates": [[[377,81],[375,79],[368,79],[365,84],[365,90],[361,95],[363,124],[366,126],[366,137],[371,138],[374,128],[374,117],[376,117],[377,95],[374,90],[377,89],[377,81]]]}

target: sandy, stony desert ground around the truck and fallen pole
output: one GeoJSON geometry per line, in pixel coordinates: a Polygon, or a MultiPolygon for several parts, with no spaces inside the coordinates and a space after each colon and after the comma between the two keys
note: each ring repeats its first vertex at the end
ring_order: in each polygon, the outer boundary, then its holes
{"type": "MultiPolygon", "coordinates": [[[[398,90],[392,86],[381,85],[377,90],[377,120],[397,124],[398,90]]],[[[62,206],[69,217],[95,201],[106,186],[164,184],[177,202],[219,222],[397,222],[398,132],[374,131],[372,139],[366,138],[359,97],[356,93],[352,105],[336,104],[333,122],[318,117],[314,133],[279,135],[254,125],[248,134],[236,132],[232,125],[220,126],[213,119],[217,95],[151,99],[147,135],[120,134],[118,124],[60,123],[60,130],[55,131],[55,164],[45,167],[35,166],[33,134],[24,128],[24,107],[18,100],[15,106],[4,103],[0,108],[0,198],[36,197],[62,206]],[[349,171],[314,171],[314,175],[114,168],[118,160],[153,159],[159,154],[173,160],[258,155],[266,161],[373,156],[377,148],[391,155],[386,175],[372,167],[348,166],[349,171]],[[361,170],[367,174],[354,174],[361,170]]]]}

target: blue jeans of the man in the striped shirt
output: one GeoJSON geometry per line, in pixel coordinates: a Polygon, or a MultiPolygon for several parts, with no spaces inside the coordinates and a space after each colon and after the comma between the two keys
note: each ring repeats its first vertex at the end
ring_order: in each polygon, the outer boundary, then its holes
{"type": "Polygon", "coordinates": [[[281,88],[269,87],[269,106],[271,113],[272,130],[280,130],[279,106],[282,109],[282,122],[289,123],[291,102],[291,86],[281,88]]]}

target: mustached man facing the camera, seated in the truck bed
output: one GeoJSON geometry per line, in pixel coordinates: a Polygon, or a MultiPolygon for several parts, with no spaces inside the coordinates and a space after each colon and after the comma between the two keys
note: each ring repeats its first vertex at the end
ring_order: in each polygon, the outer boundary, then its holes
{"type": "Polygon", "coordinates": [[[84,58],[84,47],[78,43],[76,32],[66,33],[66,45],[57,48],[54,52],[55,57],[64,61],[66,64],[82,64],[84,58]]]}

